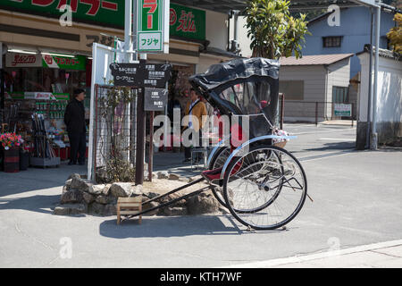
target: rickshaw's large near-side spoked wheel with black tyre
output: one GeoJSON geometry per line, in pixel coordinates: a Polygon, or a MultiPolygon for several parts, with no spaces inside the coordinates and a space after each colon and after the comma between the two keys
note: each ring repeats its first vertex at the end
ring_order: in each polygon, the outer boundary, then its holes
{"type": "Polygon", "coordinates": [[[273,230],[289,223],[305,203],[306,194],[305,171],[281,147],[250,147],[247,154],[230,162],[223,179],[223,197],[230,213],[255,230],[273,230]]]}

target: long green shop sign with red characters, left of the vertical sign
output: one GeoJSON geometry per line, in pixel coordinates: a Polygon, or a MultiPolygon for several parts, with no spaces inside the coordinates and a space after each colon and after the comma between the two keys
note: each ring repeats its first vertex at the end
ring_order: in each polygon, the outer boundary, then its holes
{"type": "Polygon", "coordinates": [[[72,21],[94,22],[124,28],[125,0],[1,0],[0,8],[43,15],[63,15],[63,5],[70,4],[72,21]]]}

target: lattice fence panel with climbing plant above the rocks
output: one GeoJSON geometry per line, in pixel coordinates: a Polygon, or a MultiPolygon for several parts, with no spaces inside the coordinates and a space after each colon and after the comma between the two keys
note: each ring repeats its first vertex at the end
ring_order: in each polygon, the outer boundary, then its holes
{"type": "Polygon", "coordinates": [[[95,181],[134,181],[136,113],[134,88],[95,86],[93,165],[95,181]]]}

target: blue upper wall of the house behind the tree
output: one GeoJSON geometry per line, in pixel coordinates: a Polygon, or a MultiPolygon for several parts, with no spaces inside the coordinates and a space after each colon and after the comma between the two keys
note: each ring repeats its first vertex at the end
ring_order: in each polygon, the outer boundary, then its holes
{"type": "MultiPolygon", "coordinates": [[[[386,34],[394,27],[393,14],[381,12],[380,47],[387,48],[386,34]]],[[[366,7],[350,7],[340,9],[340,25],[328,25],[328,16],[313,21],[308,30],[313,34],[306,36],[303,55],[349,54],[363,51],[365,44],[370,44],[370,9],[366,7]],[[323,47],[322,37],[342,36],[340,47],[323,47]]],[[[373,45],[375,39],[373,39],[373,45]]],[[[356,55],[350,59],[350,78],[360,71],[360,61],[356,55]]]]}

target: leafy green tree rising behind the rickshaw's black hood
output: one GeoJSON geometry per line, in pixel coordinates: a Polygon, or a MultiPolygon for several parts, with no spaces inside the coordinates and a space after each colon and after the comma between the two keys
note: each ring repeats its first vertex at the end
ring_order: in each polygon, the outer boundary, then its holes
{"type": "Polygon", "coordinates": [[[252,56],[279,59],[281,56],[301,57],[301,44],[307,30],[306,15],[294,18],[286,0],[249,0],[245,10],[247,37],[251,38],[252,56]]]}

